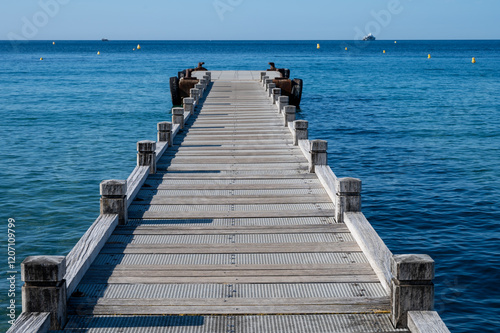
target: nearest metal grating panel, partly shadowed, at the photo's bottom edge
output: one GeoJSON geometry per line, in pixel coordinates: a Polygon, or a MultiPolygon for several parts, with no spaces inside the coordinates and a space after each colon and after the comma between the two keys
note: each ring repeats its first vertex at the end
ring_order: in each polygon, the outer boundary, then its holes
{"type": "Polygon", "coordinates": [[[388,314],[271,316],[69,316],[53,333],[408,333],[388,314]]]}

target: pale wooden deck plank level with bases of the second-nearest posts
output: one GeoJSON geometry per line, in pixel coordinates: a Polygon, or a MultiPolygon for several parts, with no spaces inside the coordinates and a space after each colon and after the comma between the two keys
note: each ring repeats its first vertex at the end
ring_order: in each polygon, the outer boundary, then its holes
{"type": "Polygon", "coordinates": [[[296,211],[191,211],[191,212],[161,212],[133,211],[129,213],[129,218],[133,219],[221,219],[221,218],[272,218],[272,217],[332,217],[333,209],[317,210],[296,210],[296,211]]]}

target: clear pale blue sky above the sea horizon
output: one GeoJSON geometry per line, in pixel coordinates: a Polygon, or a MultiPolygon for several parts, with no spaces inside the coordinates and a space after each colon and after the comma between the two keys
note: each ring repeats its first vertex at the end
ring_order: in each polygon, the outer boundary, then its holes
{"type": "Polygon", "coordinates": [[[499,0],[2,0],[0,40],[500,39],[499,0]]]}

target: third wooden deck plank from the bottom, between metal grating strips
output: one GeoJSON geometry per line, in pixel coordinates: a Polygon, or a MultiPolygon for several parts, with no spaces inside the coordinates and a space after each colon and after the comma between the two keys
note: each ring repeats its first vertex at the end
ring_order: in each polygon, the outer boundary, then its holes
{"type": "Polygon", "coordinates": [[[279,243],[279,244],[110,244],[101,253],[165,254],[165,253],[332,253],[360,252],[355,242],[344,243],[279,243]]]}

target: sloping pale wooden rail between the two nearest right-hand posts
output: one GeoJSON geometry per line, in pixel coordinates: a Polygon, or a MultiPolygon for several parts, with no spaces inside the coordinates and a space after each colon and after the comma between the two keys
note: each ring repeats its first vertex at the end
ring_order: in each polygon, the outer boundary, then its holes
{"type": "Polygon", "coordinates": [[[363,213],[344,213],[344,223],[372,265],[388,295],[391,294],[392,252],[368,222],[363,213]]]}

